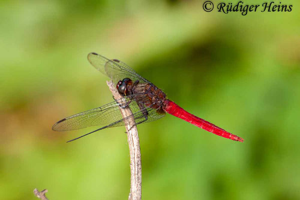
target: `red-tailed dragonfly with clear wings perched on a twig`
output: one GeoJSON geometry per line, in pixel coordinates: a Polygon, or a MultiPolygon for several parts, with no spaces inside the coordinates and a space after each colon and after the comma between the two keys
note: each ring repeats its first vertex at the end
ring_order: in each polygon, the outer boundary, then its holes
{"type": "Polygon", "coordinates": [[[87,59],[97,70],[112,79],[122,98],[57,121],[52,126],[52,130],[66,131],[101,125],[100,128],[69,141],[104,128],[123,126],[127,120],[134,120],[135,124],[140,124],[154,121],[163,117],[165,113],[169,113],[213,134],[243,142],[241,137],[187,112],[175,102],[167,99],[161,89],[124,62],[118,59],[108,59],[95,52],[89,53],[87,59]],[[129,107],[132,114],[123,117],[119,107],[129,107]]]}

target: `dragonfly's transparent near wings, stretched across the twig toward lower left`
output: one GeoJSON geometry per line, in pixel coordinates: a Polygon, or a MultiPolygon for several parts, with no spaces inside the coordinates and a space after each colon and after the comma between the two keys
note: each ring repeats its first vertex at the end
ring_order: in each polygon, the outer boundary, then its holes
{"type": "Polygon", "coordinates": [[[161,118],[164,113],[157,112],[152,108],[147,95],[143,93],[125,96],[116,101],[112,101],[101,107],[90,109],[56,122],[52,129],[55,131],[75,130],[88,126],[103,125],[106,127],[114,127],[124,125],[124,120],[135,119],[135,123],[150,122],[161,118]],[[125,118],[119,110],[119,105],[128,105],[132,111],[132,115],[125,118]]]}

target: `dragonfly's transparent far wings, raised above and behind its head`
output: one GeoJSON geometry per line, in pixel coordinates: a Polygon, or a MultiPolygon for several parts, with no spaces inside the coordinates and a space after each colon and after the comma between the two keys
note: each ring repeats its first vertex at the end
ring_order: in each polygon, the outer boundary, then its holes
{"type": "Polygon", "coordinates": [[[97,70],[110,77],[115,84],[123,78],[130,78],[133,82],[139,80],[139,82],[149,83],[147,79],[120,60],[108,59],[94,52],[89,53],[87,59],[97,70]]]}

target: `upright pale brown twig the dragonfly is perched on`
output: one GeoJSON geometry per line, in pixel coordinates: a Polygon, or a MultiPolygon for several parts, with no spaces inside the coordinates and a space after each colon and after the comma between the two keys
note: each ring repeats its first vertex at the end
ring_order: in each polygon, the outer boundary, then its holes
{"type": "MultiPolygon", "coordinates": [[[[112,81],[106,81],[114,99],[121,101],[122,96],[117,92],[112,81]]],[[[129,107],[120,108],[123,118],[132,114],[129,107]]],[[[127,140],[130,153],[130,193],[128,200],[141,199],[141,160],[140,160],[140,147],[139,138],[134,119],[126,120],[125,128],[127,132],[127,140]]]]}

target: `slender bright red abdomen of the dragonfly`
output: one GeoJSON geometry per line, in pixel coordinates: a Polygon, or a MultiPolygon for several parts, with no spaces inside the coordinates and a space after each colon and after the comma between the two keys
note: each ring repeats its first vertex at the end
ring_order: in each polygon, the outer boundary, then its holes
{"type": "Polygon", "coordinates": [[[199,128],[202,128],[204,130],[207,130],[208,132],[212,132],[216,135],[232,139],[235,141],[241,141],[243,142],[243,139],[235,134],[231,134],[230,132],[227,132],[226,130],[208,122],[204,119],[201,119],[187,111],[185,111],[182,107],[177,105],[171,100],[165,100],[163,103],[163,109],[167,113],[174,115],[178,118],[181,118],[195,126],[198,126],[199,128]]]}

